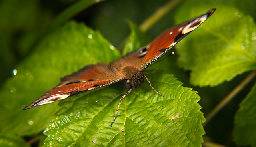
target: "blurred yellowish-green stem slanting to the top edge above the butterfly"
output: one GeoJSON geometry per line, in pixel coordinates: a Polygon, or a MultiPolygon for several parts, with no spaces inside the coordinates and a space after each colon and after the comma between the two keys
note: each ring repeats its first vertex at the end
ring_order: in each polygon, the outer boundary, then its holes
{"type": "Polygon", "coordinates": [[[153,26],[158,20],[160,20],[166,13],[179,4],[182,0],[170,0],[167,4],[156,10],[156,12],[146,19],[141,25],[140,30],[146,32],[151,26],[153,26]]]}

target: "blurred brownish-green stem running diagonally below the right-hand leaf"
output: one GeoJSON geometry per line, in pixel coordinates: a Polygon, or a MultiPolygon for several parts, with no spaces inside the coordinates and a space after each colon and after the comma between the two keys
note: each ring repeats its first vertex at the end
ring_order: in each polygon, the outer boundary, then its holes
{"type": "Polygon", "coordinates": [[[256,72],[251,72],[239,85],[237,85],[210,113],[205,117],[205,126],[228,102],[230,102],[244,87],[256,76],[256,72]]]}

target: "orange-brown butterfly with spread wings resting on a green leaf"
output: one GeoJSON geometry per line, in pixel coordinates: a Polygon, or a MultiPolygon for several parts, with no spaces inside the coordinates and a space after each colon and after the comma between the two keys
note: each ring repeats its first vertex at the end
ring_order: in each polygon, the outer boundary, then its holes
{"type": "Polygon", "coordinates": [[[212,9],[206,14],[166,30],[154,39],[151,44],[139,48],[114,62],[110,62],[108,65],[95,64],[85,66],[78,72],[62,77],[59,85],[44,93],[41,97],[25,107],[24,110],[66,99],[67,97],[116,82],[121,82],[126,88],[130,88],[130,90],[120,99],[115,117],[110,125],[112,126],[122,103],[122,99],[133,89],[139,87],[143,83],[144,77],[150,84],[150,87],[157,94],[162,95],[152,87],[150,81],[143,73],[144,69],[200,26],[215,10],[216,9],[212,9]]]}

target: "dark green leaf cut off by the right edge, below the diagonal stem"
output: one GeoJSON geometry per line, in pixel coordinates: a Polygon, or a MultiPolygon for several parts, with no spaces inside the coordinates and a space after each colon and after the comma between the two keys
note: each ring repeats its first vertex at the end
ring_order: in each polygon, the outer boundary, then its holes
{"type": "Polygon", "coordinates": [[[240,146],[256,147],[256,85],[253,86],[247,97],[240,103],[235,115],[234,141],[240,146]]]}

